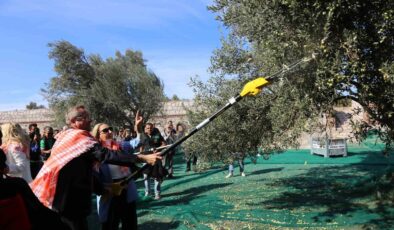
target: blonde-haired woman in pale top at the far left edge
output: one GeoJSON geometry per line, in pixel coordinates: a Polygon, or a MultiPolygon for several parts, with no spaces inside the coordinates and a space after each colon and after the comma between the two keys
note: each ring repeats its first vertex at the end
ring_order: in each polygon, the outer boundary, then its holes
{"type": "Polygon", "coordinates": [[[3,134],[1,148],[7,156],[8,175],[21,177],[27,183],[31,182],[29,136],[16,123],[5,123],[1,125],[1,132],[3,134]]]}

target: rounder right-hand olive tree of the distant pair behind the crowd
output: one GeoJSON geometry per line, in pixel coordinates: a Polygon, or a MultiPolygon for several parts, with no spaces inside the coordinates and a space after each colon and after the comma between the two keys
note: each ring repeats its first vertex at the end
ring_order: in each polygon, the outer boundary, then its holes
{"type": "Polygon", "coordinates": [[[145,120],[161,108],[163,84],[145,65],[141,52],[116,52],[115,58],[93,58],[96,70],[90,94],[101,106],[92,107],[98,120],[111,124],[132,125],[134,114],[141,110],[145,120]],[[132,115],[132,116],[130,116],[132,115]]]}

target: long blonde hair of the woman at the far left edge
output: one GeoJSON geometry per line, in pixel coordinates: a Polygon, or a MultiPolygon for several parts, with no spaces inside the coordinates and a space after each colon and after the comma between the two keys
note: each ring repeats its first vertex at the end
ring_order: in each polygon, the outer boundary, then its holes
{"type": "Polygon", "coordinates": [[[25,148],[30,148],[30,137],[17,123],[4,123],[1,125],[3,134],[2,143],[8,145],[10,142],[18,142],[25,148]]]}

